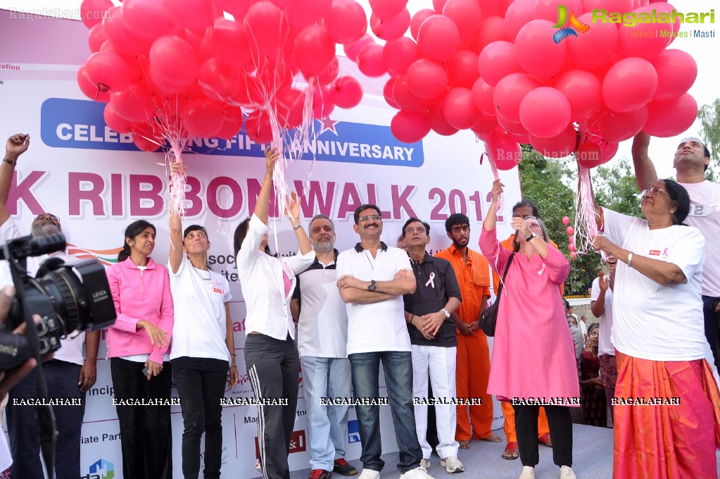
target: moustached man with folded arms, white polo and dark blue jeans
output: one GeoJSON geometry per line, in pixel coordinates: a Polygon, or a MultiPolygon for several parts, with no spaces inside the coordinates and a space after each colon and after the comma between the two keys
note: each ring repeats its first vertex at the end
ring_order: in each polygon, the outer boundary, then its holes
{"type": "Polygon", "coordinates": [[[400,478],[427,479],[431,476],[420,467],[423,452],[415,434],[413,363],[402,303],[402,295],[415,292],[415,277],[408,254],[380,241],[381,215],[376,205],[355,210],[354,229],[360,242],[338,256],[336,270],[348,312],[348,359],[362,443],[359,479],[379,479],[385,464],[380,459],[381,361],[400,449],[400,478]]]}

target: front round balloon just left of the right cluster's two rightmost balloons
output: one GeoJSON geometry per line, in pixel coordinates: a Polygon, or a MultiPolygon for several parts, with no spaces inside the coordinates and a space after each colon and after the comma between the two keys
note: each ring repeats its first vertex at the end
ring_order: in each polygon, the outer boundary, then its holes
{"type": "Polygon", "coordinates": [[[632,112],[646,105],[657,90],[657,73],[643,58],[624,58],[603,80],[603,100],[614,112],[632,112]]]}

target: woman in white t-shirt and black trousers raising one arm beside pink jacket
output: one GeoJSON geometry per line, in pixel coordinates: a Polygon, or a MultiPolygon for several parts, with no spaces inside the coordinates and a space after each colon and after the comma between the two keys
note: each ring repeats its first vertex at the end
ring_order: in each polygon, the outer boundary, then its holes
{"type": "MultiPolygon", "coordinates": [[[[184,174],[180,164],[174,174],[184,174]]],[[[219,478],[222,464],[222,405],[225,383],[238,382],[228,279],[207,267],[210,238],[200,225],[182,230],[170,211],[170,287],[175,305],[170,360],[184,422],[182,473],[197,478],[200,439],[205,434],[204,477],[219,478]]]]}

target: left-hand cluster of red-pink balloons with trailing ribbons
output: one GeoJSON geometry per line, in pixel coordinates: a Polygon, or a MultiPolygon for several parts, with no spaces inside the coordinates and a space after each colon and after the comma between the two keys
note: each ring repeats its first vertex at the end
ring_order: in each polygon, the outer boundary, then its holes
{"type": "Polygon", "coordinates": [[[365,35],[355,0],[84,0],[81,14],[93,53],[78,85],[145,151],[163,139],[231,138],[243,113],[251,140],[269,143],[362,97],[356,79],[338,77],[335,55],[336,43],[365,35]]]}

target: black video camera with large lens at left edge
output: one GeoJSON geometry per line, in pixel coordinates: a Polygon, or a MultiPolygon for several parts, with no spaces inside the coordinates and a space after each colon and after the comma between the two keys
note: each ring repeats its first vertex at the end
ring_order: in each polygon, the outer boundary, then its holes
{"type": "Polygon", "coordinates": [[[63,235],[23,236],[0,249],[12,274],[16,295],[0,330],[0,370],[9,370],[30,358],[32,347],[24,336],[12,330],[27,322],[27,315],[40,315],[37,324],[37,352],[45,356],[60,349],[60,337],[75,331],[94,331],[114,323],[116,318],[110,287],[102,264],[96,259],[67,262],[50,257],[42,262],[35,277],[27,274],[27,258],[63,251],[63,235]]]}

